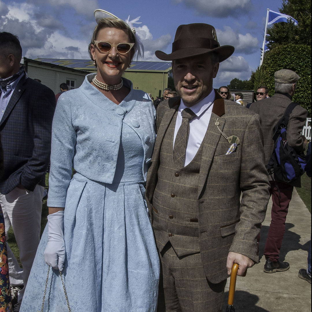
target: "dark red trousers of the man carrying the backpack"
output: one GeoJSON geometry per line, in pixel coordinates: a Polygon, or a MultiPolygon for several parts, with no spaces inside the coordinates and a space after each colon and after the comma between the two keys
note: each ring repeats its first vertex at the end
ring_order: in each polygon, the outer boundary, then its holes
{"type": "Polygon", "coordinates": [[[286,216],[294,187],[282,182],[270,181],[270,183],[273,205],[264,255],[276,262],[280,255],[280,247],[285,234],[286,216]]]}

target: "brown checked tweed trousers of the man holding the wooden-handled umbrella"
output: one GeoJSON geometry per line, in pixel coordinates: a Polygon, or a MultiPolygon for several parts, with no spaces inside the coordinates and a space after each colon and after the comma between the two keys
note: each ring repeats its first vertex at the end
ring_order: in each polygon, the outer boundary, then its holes
{"type": "Polygon", "coordinates": [[[170,242],[160,253],[158,312],[221,312],[227,280],[210,283],[200,252],[178,257],[170,242]]]}

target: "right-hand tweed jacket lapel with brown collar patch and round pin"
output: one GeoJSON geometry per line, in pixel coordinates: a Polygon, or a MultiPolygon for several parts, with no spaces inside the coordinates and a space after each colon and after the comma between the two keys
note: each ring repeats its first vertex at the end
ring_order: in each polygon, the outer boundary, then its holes
{"type": "Polygon", "coordinates": [[[216,100],[214,100],[213,103],[212,114],[210,117],[208,128],[205,137],[202,140],[202,144],[204,145],[202,148],[202,159],[199,170],[197,198],[199,198],[202,193],[213,156],[222,135],[221,132],[218,130],[217,125],[219,129],[223,131],[225,119],[221,116],[224,115],[224,112],[224,100],[220,96],[216,95],[216,100]]]}

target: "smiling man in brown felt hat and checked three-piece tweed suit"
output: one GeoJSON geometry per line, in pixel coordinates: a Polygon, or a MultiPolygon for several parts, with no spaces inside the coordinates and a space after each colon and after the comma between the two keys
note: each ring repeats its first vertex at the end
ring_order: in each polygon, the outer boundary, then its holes
{"type": "Polygon", "coordinates": [[[214,27],[180,25],[172,46],[155,54],[173,60],[180,97],[158,106],[146,187],[163,272],[158,311],[217,312],[233,263],[243,276],[258,262],[269,199],[260,121],[212,88],[234,51],[214,27]]]}

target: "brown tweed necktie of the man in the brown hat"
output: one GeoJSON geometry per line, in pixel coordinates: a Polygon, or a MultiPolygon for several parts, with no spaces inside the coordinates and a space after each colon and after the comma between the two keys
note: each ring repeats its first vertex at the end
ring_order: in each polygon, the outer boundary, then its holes
{"type": "Polygon", "coordinates": [[[173,146],[173,160],[178,168],[183,168],[185,163],[186,146],[188,135],[190,133],[189,121],[194,118],[195,114],[189,108],[182,111],[182,124],[178,130],[173,146]]]}

